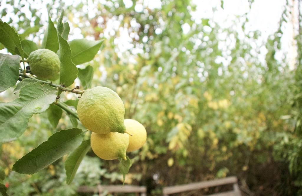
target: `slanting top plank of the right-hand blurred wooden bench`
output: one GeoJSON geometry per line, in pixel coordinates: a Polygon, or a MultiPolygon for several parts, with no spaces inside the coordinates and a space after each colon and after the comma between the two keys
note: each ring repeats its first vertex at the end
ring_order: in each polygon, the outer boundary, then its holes
{"type": "Polygon", "coordinates": [[[234,184],[234,183],[237,183],[237,177],[230,176],[227,178],[222,178],[222,179],[217,179],[217,180],[195,182],[195,183],[186,184],[186,185],[169,186],[169,187],[163,188],[162,192],[164,195],[167,195],[167,194],[181,193],[181,192],[185,192],[185,191],[192,191],[192,190],[201,189],[201,188],[208,188],[208,187],[234,184]]]}

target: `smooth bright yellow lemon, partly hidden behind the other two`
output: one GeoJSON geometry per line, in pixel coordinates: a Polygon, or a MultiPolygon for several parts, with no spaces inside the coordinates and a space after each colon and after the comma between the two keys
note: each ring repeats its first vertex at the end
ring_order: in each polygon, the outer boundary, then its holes
{"type": "Polygon", "coordinates": [[[127,148],[127,152],[132,152],[141,148],[147,139],[145,127],[133,119],[125,119],[124,124],[126,126],[126,131],[132,134],[132,137],[129,137],[129,146],[127,148]]]}

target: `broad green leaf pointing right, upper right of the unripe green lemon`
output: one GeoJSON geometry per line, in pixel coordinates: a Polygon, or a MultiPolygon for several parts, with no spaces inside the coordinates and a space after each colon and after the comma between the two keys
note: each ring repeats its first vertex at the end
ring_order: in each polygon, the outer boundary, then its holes
{"type": "Polygon", "coordinates": [[[76,65],[91,61],[100,50],[104,40],[76,39],[69,42],[71,59],[76,65]]]}

